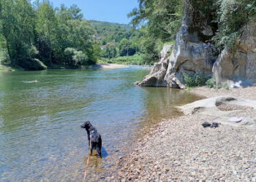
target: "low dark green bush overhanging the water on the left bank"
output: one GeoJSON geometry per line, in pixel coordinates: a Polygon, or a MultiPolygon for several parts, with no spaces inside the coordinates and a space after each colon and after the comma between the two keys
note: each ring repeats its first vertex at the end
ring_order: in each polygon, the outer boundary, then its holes
{"type": "Polygon", "coordinates": [[[27,60],[20,61],[19,66],[21,66],[22,68],[28,71],[47,69],[47,66],[45,66],[45,64],[38,59],[27,59],[27,60]]]}

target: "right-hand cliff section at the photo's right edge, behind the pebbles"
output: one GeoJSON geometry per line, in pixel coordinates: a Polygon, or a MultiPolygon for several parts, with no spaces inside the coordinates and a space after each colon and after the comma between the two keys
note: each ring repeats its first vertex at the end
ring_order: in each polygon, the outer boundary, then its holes
{"type": "Polygon", "coordinates": [[[256,17],[247,23],[238,37],[236,50],[225,50],[214,63],[214,77],[217,87],[228,84],[230,87],[245,86],[256,81],[256,17]]]}

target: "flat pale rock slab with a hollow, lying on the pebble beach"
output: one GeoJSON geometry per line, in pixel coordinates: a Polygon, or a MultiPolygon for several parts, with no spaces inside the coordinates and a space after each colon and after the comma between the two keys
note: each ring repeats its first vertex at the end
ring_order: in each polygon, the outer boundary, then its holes
{"type": "Polygon", "coordinates": [[[215,116],[216,119],[211,122],[229,124],[236,127],[249,127],[250,129],[256,130],[255,114],[249,114],[249,116],[245,114],[244,117],[241,117],[241,122],[230,122],[231,118],[241,116],[241,113],[255,113],[256,100],[218,96],[215,98],[197,100],[194,103],[189,103],[185,106],[177,106],[176,108],[179,108],[185,115],[198,113],[201,116],[215,116]],[[218,106],[226,106],[229,108],[223,110],[218,108],[218,106]]]}

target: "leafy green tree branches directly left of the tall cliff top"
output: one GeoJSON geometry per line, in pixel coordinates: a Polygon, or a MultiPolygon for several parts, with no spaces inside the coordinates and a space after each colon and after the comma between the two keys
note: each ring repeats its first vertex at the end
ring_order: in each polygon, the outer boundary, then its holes
{"type": "Polygon", "coordinates": [[[147,63],[156,62],[159,52],[167,41],[173,41],[181,23],[181,0],[140,0],[139,7],[129,13],[132,25],[142,33],[141,52],[145,53],[147,63]]]}

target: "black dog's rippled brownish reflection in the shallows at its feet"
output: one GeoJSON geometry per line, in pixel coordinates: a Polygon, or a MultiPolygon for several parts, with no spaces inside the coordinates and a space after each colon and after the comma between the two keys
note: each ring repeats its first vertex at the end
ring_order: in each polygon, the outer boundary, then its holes
{"type": "MultiPolygon", "coordinates": [[[[97,151],[93,151],[89,159],[89,168],[91,168],[91,170],[94,170],[97,173],[100,173],[103,169],[102,159],[107,156],[108,156],[108,152],[105,150],[103,146],[102,146],[102,157],[98,157],[97,151]]],[[[83,162],[85,165],[86,165],[87,159],[88,159],[88,156],[83,157],[83,162]]]]}

